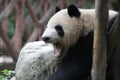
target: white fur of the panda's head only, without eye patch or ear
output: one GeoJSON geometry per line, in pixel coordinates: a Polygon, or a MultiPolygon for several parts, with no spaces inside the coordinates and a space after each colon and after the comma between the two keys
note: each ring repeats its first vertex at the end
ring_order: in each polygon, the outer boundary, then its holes
{"type": "MultiPolygon", "coordinates": [[[[66,10],[61,10],[60,12],[56,13],[48,22],[47,28],[44,32],[44,34],[42,35],[42,37],[50,37],[51,40],[56,39],[57,41],[60,41],[62,44],[65,44],[64,46],[70,46],[72,44],[74,44],[76,42],[76,40],[79,37],[79,34],[81,33],[81,27],[80,26],[80,22],[79,22],[79,18],[75,18],[75,17],[69,17],[69,15],[67,14],[66,10]],[[53,30],[55,30],[55,26],[56,25],[61,25],[63,30],[64,30],[64,37],[61,38],[59,36],[57,36],[57,32],[52,32],[53,30]],[[53,29],[53,30],[52,30],[53,29]],[[51,30],[51,33],[49,33],[49,30],[51,30]],[[50,35],[52,34],[52,35],[50,35]],[[56,36],[54,36],[56,34],[56,36]],[[78,34],[78,35],[76,35],[78,34]],[[69,39],[72,39],[69,40],[69,39]]],[[[50,40],[50,41],[51,41],[50,40]]],[[[53,41],[52,41],[53,43],[53,41]]]]}

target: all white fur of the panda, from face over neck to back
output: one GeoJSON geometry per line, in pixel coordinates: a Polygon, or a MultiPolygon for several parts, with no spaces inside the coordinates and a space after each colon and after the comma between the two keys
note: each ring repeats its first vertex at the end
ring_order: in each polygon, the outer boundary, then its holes
{"type": "MultiPolygon", "coordinates": [[[[80,18],[70,17],[67,9],[63,9],[52,16],[47,24],[47,28],[42,37],[50,37],[50,42],[61,42],[66,47],[75,44],[79,36],[86,36],[89,31],[93,30],[95,10],[94,9],[79,9],[81,12],[80,18]],[[55,26],[61,25],[65,35],[59,37],[55,26]]],[[[109,11],[109,19],[117,14],[115,11],[109,11]]]]}

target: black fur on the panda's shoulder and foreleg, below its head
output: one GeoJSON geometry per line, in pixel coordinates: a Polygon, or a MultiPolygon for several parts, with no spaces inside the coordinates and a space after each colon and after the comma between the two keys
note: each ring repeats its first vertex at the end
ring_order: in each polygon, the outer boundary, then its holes
{"type": "Polygon", "coordinates": [[[88,80],[92,64],[93,31],[69,49],[63,65],[49,80],[88,80]]]}

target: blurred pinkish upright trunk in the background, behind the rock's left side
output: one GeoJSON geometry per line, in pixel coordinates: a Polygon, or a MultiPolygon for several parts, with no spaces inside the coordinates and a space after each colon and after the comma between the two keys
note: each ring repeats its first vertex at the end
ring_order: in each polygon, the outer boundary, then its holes
{"type": "Polygon", "coordinates": [[[24,17],[23,17],[23,11],[24,11],[24,3],[25,0],[20,0],[18,2],[18,5],[16,5],[16,29],[15,29],[15,41],[14,46],[17,52],[20,52],[20,49],[22,47],[22,36],[24,31],[24,17]]]}

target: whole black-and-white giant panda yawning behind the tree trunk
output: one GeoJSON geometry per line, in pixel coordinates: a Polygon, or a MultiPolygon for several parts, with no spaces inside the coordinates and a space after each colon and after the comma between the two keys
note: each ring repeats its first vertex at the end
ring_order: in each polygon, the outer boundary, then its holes
{"type": "MultiPolygon", "coordinates": [[[[117,14],[110,10],[109,22],[114,22],[117,14]]],[[[94,17],[94,9],[79,9],[70,5],[48,21],[42,39],[54,44],[54,56],[60,64],[48,80],[89,80],[94,17]]]]}

